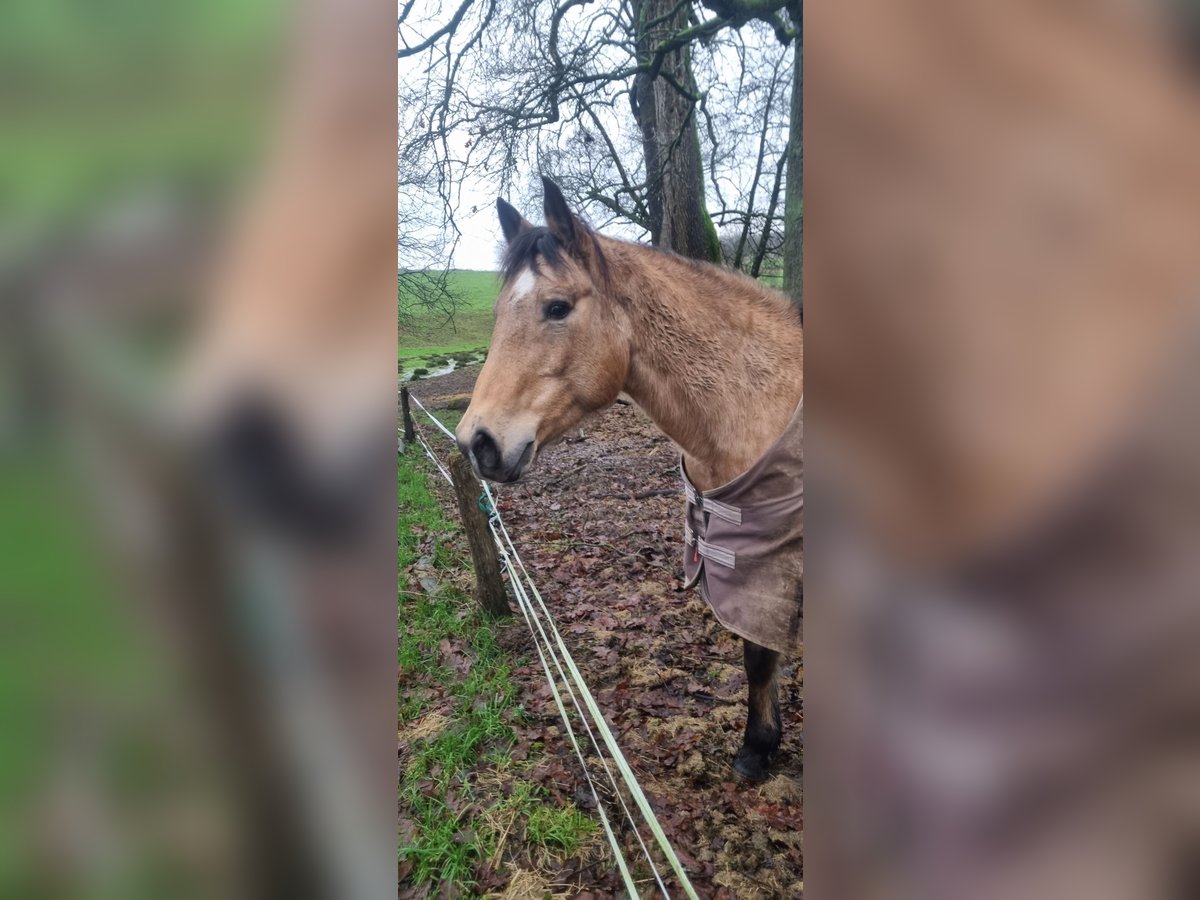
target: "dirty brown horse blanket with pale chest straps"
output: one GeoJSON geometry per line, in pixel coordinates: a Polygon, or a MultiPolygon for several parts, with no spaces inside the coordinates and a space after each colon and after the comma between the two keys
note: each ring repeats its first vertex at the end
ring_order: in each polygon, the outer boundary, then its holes
{"type": "Polygon", "coordinates": [[[722,625],[780,653],[800,637],[804,577],[804,402],[746,472],[712,491],[688,480],[684,574],[722,625]]]}

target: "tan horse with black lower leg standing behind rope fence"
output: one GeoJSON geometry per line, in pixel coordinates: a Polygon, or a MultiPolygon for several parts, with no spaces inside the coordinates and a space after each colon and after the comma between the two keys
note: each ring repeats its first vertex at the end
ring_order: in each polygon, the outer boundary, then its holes
{"type": "MultiPolygon", "coordinates": [[[[785,432],[798,436],[799,312],[739,272],[600,235],[569,209],[553,181],[542,184],[545,226],[497,200],[506,245],[502,288],[458,446],[481,478],[511,484],[541,448],[624,392],[682,450],[688,562],[700,568],[710,562],[700,559],[708,545],[697,544],[692,530],[708,518],[700,511],[706,498],[764,461],[785,432]]],[[[798,497],[798,437],[793,445],[794,464],[782,470],[798,497]]],[[[791,576],[772,582],[776,593],[787,592],[775,599],[791,634],[774,646],[752,640],[762,623],[737,599],[726,607],[732,614],[718,614],[743,637],[749,713],[733,767],[754,781],[767,778],[782,738],[778,671],[782,654],[798,644],[802,524],[793,520],[785,526],[797,534],[785,547],[791,576]]]]}

